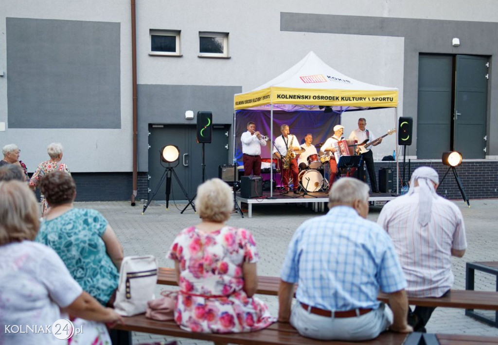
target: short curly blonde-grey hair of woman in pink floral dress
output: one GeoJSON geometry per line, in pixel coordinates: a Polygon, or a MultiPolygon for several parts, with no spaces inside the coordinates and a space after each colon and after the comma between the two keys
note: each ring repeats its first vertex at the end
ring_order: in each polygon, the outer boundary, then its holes
{"type": "Polygon", "coordinates": [[[233,203],[232,189],[218,178],[207,180],[197,188],[195,206],[203,220],[225,222],[230,218],[233,203]]]}

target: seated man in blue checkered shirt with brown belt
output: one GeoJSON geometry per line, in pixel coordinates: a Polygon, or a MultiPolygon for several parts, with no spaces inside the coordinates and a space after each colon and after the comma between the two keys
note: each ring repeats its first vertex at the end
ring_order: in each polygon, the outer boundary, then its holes
{"type": "Polygon", "coordinates": [[[408,333],[406,280],[387,233],[368,221],[369,186],[342,178],[330,211],[294,233],[280,274],[278,321],[304,337],[363,341],[391,329],[408,333]],[[291,312],[294,284],[297,303],[291,312]],[[377,301],[379,289],[389,306],[377,301]]]}

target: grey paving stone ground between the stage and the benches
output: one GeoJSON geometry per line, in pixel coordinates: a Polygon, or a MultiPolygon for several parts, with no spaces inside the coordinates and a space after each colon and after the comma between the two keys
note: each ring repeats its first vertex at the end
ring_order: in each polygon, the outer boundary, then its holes
{"type": "MultiPolygon", "coordinates": [[[[472,261],[498,260],[498,200],[471,200],[471,208],[459,200],[455,204],[462,210],[467,231],[468,248],[463,258],[453,258],[456,289],[465,289],[465,263],[472,261]]],[[[185,227],[199,222],[199,216],[189,208],[183,214],[180,211],[186,203],[165,204],[153,201],[142,215],[143,205],[131,207],[129,202],[93,202],[76,203],[76,207],[92,208],[100,211],[116,231],[124,247],[125,255],[153,254],[159,266],[173,267],[173,262],[164,257],[168,246],[176,234],[185,227]]],[[[381,206],[371,206],[369,219],[376,221],[381,206]]],[[[287,244],[305,220],[321,215],[303,205],[254,205],[252,218],[242,218],[233,213],[228,225],[249,229],[257,242],[260,260],[257,270],[259,275],[278,276],[287,244]]],[[[476,290],[496,291],[495,276],[476,271],[476,290]]],[[[161,289],[171,287],[157,287],[161,289]]],[[[277,314],[276,297],[262,296],[272,312],[277,314]]],[[[483,315],[494,317],[494,312],[483,312],[483,315]]],[[[498,329],[466,317],[464,310],[453,308],[437,308],[427,324],[429,333],[470,334],[498,337],[498,329]]],[[[133,344],[168,342],[176,340],[181,345],[204,345],[211,342],[164,338],[143,333],[133,334],[133,344]]]]}

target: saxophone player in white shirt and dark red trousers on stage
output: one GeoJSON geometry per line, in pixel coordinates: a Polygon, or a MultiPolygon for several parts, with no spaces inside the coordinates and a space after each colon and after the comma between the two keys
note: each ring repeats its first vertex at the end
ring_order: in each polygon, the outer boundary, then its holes
{"type": "Polygon", "coordinates": [[[299,169],[297,166],[296,154],[301,151],[299,141],[293,134],[289,134],[289,126],[282,124],[280,126],[282,135],[275,138],[273,146],[273,156],[282,160],[282,194],[289,193],[289,177],[292,174],[294,183],[294,194],[300,194],[297,190],[299,187],[299,169]]]}

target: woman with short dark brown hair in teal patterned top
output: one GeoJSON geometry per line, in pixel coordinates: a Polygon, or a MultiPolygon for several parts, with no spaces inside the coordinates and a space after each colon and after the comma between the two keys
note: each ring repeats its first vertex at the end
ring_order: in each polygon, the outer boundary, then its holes
{"type": "Polygon", "coordinates": [[[103,305],[114,303],[123,248],[107,220],[96,210],[73,207],[76,184],[62,171],[41,179],[49,205],[36,241],[54,249],[83,290],[103,305]]]}

